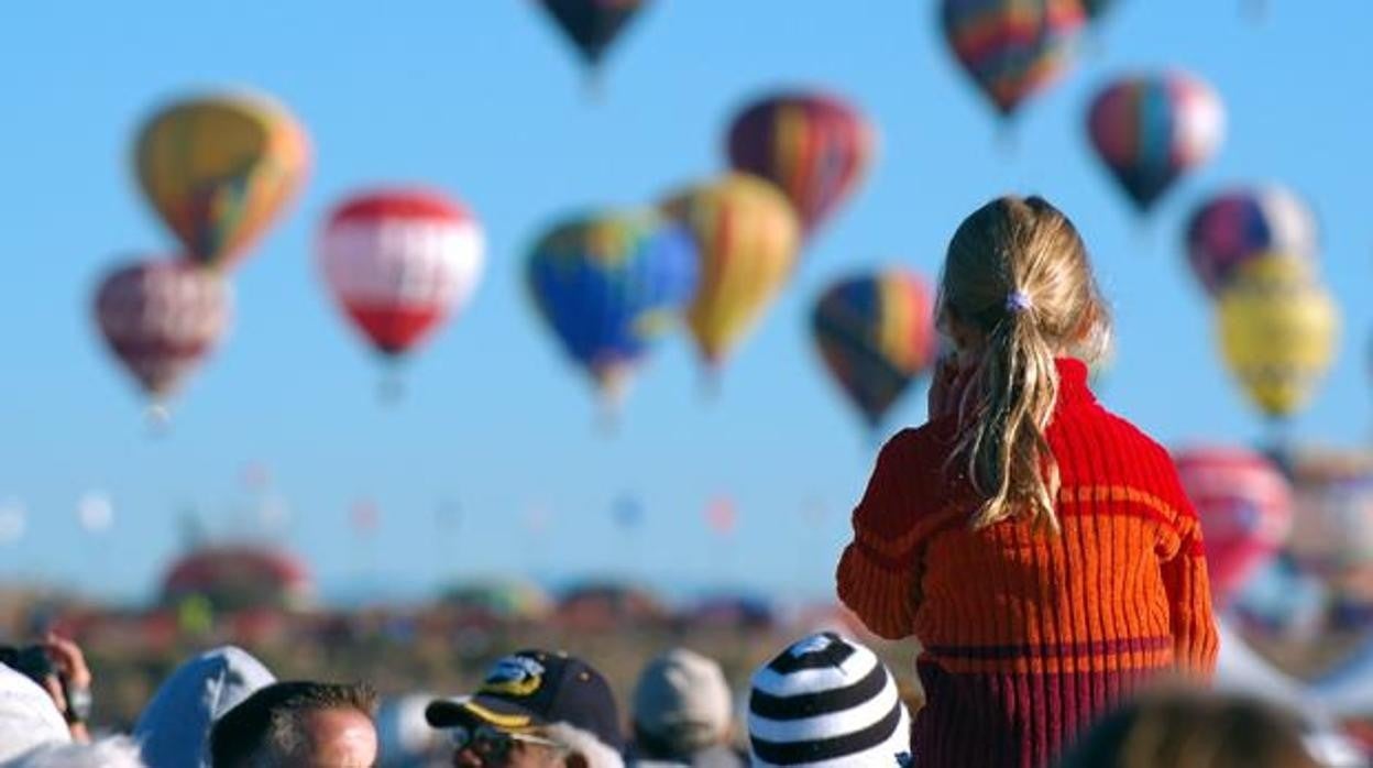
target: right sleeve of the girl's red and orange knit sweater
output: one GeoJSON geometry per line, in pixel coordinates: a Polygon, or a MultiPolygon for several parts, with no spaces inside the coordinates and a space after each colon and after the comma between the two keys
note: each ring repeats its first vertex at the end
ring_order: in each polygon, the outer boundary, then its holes
{"type": "MultiPolygon", "coordinates": [[[[1164,456],[1167,456],[1164,453],[1164,456]]],[[[1211,609],[1201,522],[1188,500],[1171,459],[1160,467],[1164,493],[1177,512],[1173,529],[1160,544],[1163,588],[1168,595],[1173,648],[1181,672],[1210,679],[1221,643],[1211,609]]]]}

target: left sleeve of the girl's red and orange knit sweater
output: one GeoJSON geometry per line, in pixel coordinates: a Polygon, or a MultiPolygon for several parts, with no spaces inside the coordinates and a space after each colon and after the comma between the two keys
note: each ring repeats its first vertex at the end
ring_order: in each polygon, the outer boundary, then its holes
{"type": "Polygon", "coordinates": [[[868,489],[854,508],[854,539],[836,573],[839,599],[868,629],[890,640],[912,633],[919,607],[916,554],[921,541],[910,488],[919,468],[914,434],[898,433],[877,455],[868,489]]]}

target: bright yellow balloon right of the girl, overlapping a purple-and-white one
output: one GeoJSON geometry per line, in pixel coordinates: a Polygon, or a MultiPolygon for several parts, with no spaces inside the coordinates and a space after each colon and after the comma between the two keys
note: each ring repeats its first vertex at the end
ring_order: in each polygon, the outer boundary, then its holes
{"type": "Polygon", "coordinates": [[[1249,400],[1274,418],[1304,407],[1335,359],[1340,326],[1310,260],[1270,253],[1245,262],[1218,309],[1221,353],[1249,400]]]}

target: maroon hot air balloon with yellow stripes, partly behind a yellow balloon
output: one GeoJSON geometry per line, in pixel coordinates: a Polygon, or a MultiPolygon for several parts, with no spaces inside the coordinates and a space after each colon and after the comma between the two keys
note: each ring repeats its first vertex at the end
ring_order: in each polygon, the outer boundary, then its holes
{"type": "Polygon", "coordinates": [[[729,163],[776,184],[810,234],[862,181],[875,135],[851,106],[821,93],[755,102],[729,129],[729,163]]]}

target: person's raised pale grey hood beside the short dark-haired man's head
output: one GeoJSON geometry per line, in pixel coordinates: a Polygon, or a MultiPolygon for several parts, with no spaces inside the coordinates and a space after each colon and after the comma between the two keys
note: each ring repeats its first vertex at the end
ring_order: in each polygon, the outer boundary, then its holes
{"type": "Polygon", "coordinates": [[[133,728],[148,768],[209,768],[210,727],[258,688],[276,681],[235,646],[206,651],[162,683],[133,728]]]}

